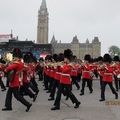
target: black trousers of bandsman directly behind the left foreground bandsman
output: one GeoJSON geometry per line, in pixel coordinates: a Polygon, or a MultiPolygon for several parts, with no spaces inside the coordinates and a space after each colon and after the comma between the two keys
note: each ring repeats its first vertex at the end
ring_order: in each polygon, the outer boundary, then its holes
{"type": "Polygon", "coordinates": [[[35,94],[29,89],[29,83],[23,83],[23,86],[20,87],[20,94],[22,96],[24,94],[27,94],[30,98],[33,98],[35,96],[35,94]]]}

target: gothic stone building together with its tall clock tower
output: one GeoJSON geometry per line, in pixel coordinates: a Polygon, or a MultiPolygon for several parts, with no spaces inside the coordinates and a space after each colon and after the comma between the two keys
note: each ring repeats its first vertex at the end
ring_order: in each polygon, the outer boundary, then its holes
{"type": "MultiPolygon", "coordinates": [[[[37,26],[37,43],[48,44],[48,10],[46,1],[42,0],[40,10],[38,11],[38,26],[37,26]]],[[[93,58],[101,55],[101,42],[98,37],[95,37],[91,43],[87,39],[85,43],[80,43],[77,36],[75,36],[71,43],[58,43],[53,36],[51,40],[52,53],[63,53],[65,49],[69,48],[74,55],[79,59],[83,59],[85,54],[90,54],[93,58]]]]}

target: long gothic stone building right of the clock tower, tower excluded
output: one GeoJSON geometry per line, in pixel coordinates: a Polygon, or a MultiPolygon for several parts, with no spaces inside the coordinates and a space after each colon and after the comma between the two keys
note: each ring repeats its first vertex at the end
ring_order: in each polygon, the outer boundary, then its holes
{"type": "Polygon", "coordinates": [[[101,42],[99,42],[98,37],[94,37],[91,43],[89,43],[88,39],[85,43],[80,43],[77,36],[73,37],[71,43],[58,43],[53,36],[51,44],[53,53],[59,54],[63,53],[65,49],[71,49],[78,59],[83,59],[85,54],[90,54],[92,58],[97,58],[101,55],[101,42]]]}

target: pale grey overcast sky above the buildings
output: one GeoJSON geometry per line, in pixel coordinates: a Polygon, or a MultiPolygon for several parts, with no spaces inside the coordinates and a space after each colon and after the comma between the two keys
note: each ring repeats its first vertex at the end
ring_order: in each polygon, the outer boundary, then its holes
{"type": "MultiPolygon", "coordinates": [[[[37,16],[42,0],[0,0],[0,34],[20,40],[37,39],[37,16]]],[[[79,42],[98,37],[101,54],[112,45],[120,47],[120,0],[46,0],[49,42],[53,34],[63,43],[75,35],[79,42]]]]}

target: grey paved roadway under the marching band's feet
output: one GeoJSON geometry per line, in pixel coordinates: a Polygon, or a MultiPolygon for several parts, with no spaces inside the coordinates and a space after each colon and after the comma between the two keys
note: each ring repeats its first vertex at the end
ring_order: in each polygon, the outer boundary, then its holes
{"type": "MultiPolygon", "coordinates": [[[[42,81],[38,81],[38,84],[40,92],[35,102],[25,96],[33,104],[29,112],[25,112],[26,107],[13,97],[13,110],[0,110],[0,120],[120,120],[120,99],[115,100],[115,96],[107,86],[106,101],[99,102],[100,88],[98,80],[93,81],[93,93],[89,94],[86,87],[84,96],[80,96],[80,91],[76,90],[73,85],[73,93],[81,101],[78,109],[74,109],[70,99],[66,101],[62,96],[61,109],[56,111],[51,111],[54,101],[48,101],[49,93],[43,90],[42,81]]],[[[0,109],[4,107],[5,96],[6,91],[0,91],[0,109]]]]}

